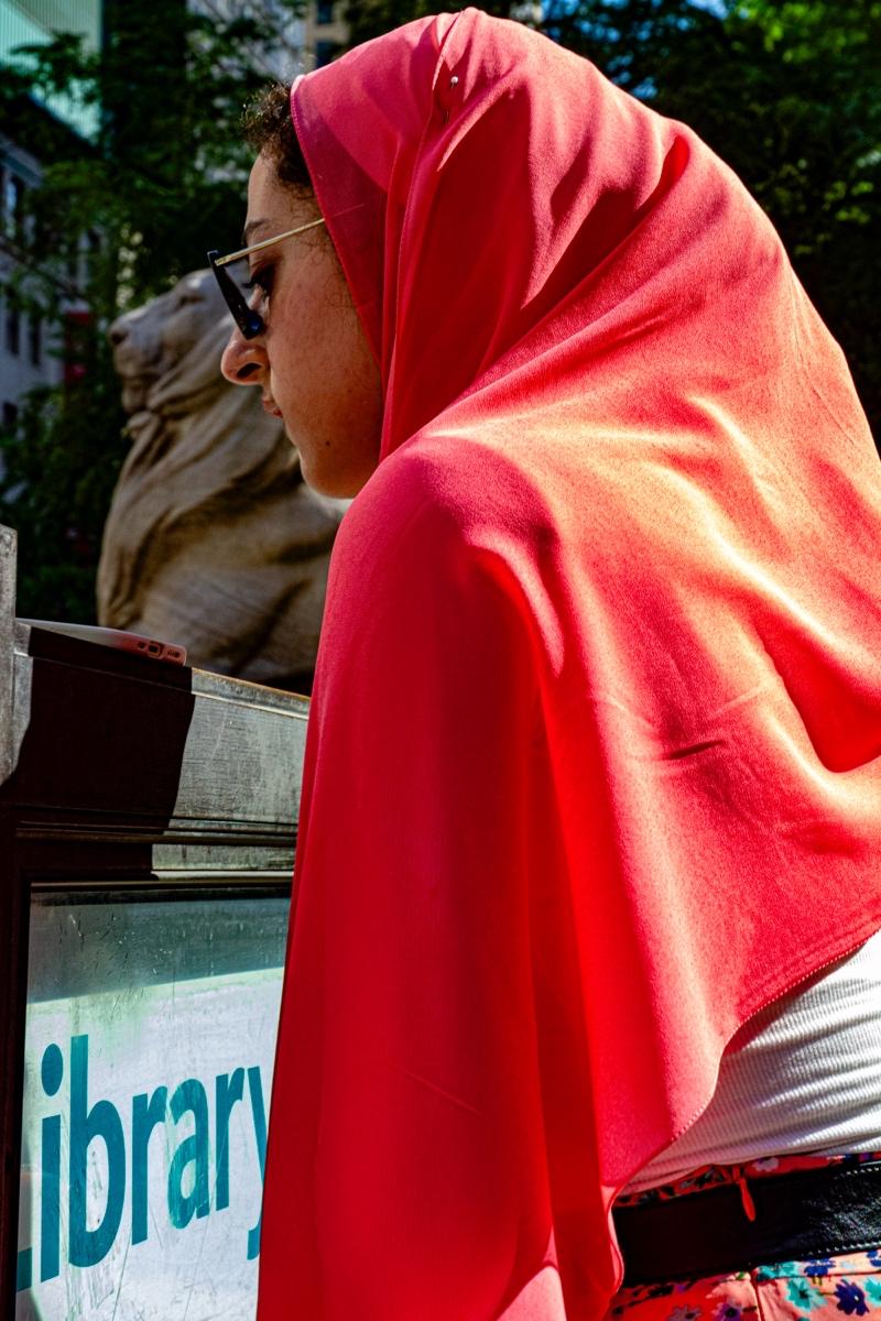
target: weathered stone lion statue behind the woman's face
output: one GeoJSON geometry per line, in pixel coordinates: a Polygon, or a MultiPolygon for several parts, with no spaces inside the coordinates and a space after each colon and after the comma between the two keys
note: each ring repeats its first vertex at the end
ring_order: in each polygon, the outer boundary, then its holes
{"type": "Polygon", "coordinates": [[[104,527],[98,618],[189,660],[309,691],[346,502],[312,491],[281,423],[219,371],[231,318],[195,271],[111,326],[132,448],[104,527]]]}

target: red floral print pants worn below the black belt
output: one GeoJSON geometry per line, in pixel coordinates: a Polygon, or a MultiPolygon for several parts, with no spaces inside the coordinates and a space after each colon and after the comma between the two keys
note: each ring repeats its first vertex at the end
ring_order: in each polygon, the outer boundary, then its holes
{"type": "MultiPolygon", "coordinates": [[[[675,1184],[619,1198],[619,1203],[687,1197],[722,1182],[773,1178],[795,1169],[878,1161],[859,1156],[773,1156],[741,1166],[707,1165],[675,1184]]],[[[752,1271],[701,1280],[656,1281],[619,1289],[605,1321],[881,1321],[881,1244],[868,1252],[810,1262],[770,1262],[752,1271]]]]}

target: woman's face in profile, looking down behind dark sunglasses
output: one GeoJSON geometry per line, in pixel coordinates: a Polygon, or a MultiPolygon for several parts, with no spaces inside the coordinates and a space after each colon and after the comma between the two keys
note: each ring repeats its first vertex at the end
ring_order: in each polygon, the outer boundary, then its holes
{"type": "MultiPolygon", "coordinates": [[[[318,217],[259,156],[248,184],[247,243],[318,217]]],[[[221,370],[260,386],[263,407],[281,417],[302,474],[324,495],[355,495],[379,461],[383,399],[379,369],[324,226],[281,239],[248,258],[251,303],[265,332],[236,329],[221,370]]]]}

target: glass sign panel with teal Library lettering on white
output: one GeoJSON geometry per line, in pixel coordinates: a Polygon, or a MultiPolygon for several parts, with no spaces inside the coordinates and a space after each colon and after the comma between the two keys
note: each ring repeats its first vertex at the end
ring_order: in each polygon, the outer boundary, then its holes
{"type": "Polygon", "coordinates": [[[16,1321],[252,1316],[287,914],[34,900],[16,1321]]]}

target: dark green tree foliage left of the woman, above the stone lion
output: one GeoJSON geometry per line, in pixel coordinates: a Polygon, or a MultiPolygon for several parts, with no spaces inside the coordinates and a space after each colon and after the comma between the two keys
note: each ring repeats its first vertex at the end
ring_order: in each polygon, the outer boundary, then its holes
{"type": "Polygon", "coordinates": [[[85,621],[128,448],[107,328],[205,266],[207,247],[235,246],[251,164],[242,107],[265,83],[260,52],[277,36],[184,0],[110,0],[106,25],[100,53],[59,37],[0,79],[4,132],[44,172],[7,235],[18,258],[7,296],[44,310],[66,362],[63,384],[32,392],[0,437],[0,522],[18,531],[18,613],[85,621]],[[92,107],[94,143],[34,106],[34,91],[92,107]],[[71,321],[71,303],[88,316],[71,321]]]}

